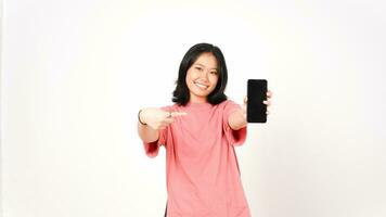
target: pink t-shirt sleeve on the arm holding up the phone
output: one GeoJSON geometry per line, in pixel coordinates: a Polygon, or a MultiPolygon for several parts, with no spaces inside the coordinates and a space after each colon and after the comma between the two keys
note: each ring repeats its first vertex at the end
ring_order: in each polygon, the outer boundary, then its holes
{"type": "Polygon", "coordinates": [[[224,107],[223,107],[223,119],[222,119],[222,128],[223,128],[223,132],[226,135],[226,138],[228,140],[228,142],[231,145],[242,145],[245,142],[246,139],[246,126],[239,129],[239,130],[233,130],[230,126],[229,126],[229,116],[236,112],[237,110],[241,110],[242,107],[234,103],[231,100],[227,100],[224,102],[224,107]]]}

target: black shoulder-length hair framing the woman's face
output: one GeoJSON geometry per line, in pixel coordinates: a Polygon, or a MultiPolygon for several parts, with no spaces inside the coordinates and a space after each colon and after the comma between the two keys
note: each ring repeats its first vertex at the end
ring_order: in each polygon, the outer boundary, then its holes
{"type": "Polygon", "coordinates": [[[228,81],[228,71],[226,59],[223,58],[221,50],[210,43],[197,43],[189,49],[189,51],[185,53],[181,61],[178,79],[176,81],[177,86],[175,91],[172,92],[172,102],[179,105],[188,104],[190,100],[190,91],[185,81],[186,73],[188,69],[193,65],[193,63],[202,53],[211,53],[216,56],[217,72],[219,75],[217,86],[207,97],[207,101],[210,104],[216,105],[227,100],[224,90],[228,81]]]}

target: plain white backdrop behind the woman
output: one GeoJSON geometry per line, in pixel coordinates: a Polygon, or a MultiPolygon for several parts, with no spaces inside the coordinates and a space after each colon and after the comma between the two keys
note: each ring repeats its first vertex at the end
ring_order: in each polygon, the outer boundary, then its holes
{"type": "Polygon", "coordinates": [[[3,217],[162,216],[165,150],[137,112],[171,104],[183,54],[223,51],[227,93],[272,90],[236,148],[255,217],[386,216],[386,4],[369,0],[3,0],[3,217]],[[140,2],[140,3],[139,3],[140,2]]]}

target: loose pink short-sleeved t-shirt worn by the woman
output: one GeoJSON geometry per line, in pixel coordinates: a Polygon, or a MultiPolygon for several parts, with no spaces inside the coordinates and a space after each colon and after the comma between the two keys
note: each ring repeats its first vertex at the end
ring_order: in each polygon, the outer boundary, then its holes
{"type": "Polygon", "coordinates": [[[166,149],[168,217],[250,217],[235,145],[245,141],[246,127],[232,130],[228,117],[240,105],[188,103],[163,110],[186,112],[159,130],[159,139],[144,142],[150,157],[166,149]]]}

